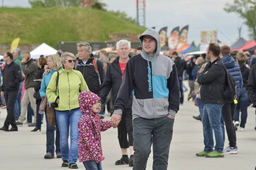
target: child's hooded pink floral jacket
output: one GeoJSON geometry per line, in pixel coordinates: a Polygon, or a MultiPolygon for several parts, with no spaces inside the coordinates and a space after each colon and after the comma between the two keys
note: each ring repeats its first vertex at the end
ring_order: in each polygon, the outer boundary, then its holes
{"type": "Polygon", "coordinates": [[[104,160],[101,148],[100,131],[112,127],[109,121],[102,121],[98,113],[92,111],[92,105],[100,97],[90,91],[79,94],[79,105],[82,117],[78,122],[78,158],[79,162],[95,160],[97,163],[104,160]]]}

